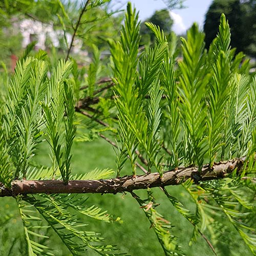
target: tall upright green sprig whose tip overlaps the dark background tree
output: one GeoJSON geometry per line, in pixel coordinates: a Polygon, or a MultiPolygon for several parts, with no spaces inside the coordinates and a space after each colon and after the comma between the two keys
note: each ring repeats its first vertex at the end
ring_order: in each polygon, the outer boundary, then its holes
{"type": "Polygon", "coordinates": [[[215,56],[215,61],[212,63],[213,74],[209,82],[207,128],[210,166],[214,164],[219,148],[222,146],[225,105],[230,93],[231,60],[229,44],[230,29],[223,14],[219,33],[214,41],[213,55],[215,56]]]}

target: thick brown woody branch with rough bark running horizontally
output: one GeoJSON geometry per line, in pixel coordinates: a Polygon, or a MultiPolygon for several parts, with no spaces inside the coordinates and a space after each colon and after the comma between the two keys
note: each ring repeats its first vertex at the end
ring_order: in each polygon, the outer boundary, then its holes
{"type": "Polygon", "coordinates": [[[0,188],[0,197],[38,193],[116,194],[125,191],[131,192],[135,189],[145,189],[148,187],[178,185],[189,178],[194,179],[195,182],[225,178],[234,168],[237,168],[237,174],[239,174],[243,163],[244,160],[242,159],[233,159],[215,163],[211,168],[208,165],[204,165],[201,172],[199,172],[197,167],[189,166],[165,172],[162,177],[158,173],[153,173],[109,180],[70,180],[67,185],[61,180],[16,180],[12,182],[11,189],[4,188],[3,184],[0,183],[0,187],[2,187],[0,188]]]}

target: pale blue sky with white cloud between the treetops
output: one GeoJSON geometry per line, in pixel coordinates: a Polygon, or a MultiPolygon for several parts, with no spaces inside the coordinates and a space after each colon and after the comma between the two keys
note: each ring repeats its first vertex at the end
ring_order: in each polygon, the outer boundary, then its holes
{"type": "MultiPolygon", "coordinates": [[[[128,0],[115,0],[122,8],[125,8],[128,0]]],[[[162,0],[130,0],[130,2],[139,11],[139,17],[144,20],[152,16],[156,10],[166,8],[162,0]]],[[[177,34],[184,33],[194,22],[197,22],[200,28],[203,28],[204,16],[212,0],[186,0],[184,5],[187,7],[181,10],[173,10],[171,16],[174,19],[173,30],[177,34]]]]}

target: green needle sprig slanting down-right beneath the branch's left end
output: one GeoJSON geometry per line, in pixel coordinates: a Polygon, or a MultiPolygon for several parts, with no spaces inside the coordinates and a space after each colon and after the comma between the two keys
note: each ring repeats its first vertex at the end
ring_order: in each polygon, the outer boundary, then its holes
{"type": "MultiPolygon", "coordinates": [[[[34,196],[29,196],[26,198],[26,201],[34,205],[39,214],[49,223],[72,255],[85,255],[88,249],[102,256],[126,255],[125,253],[115,253],[114,251],[117,250],[115,246],[104,245],[103,239],[99,236],[99,233],[84,230],[88,224],[81,223],[76,216],[71,215],[68,210],[69,197],[40,195],[39,198],[35,198],[34,196]],[[77,239],[79,242],[77,242],[77,239]]],[[[80,207],[73,203],[71,201],[71,207],[73,206],[76,210],[82,211],[80,207]]],[[[91,208],[90,210],[92,215],[93,210],[97,211],[95,208],[91,208]]],[[[99,215],[98,212],[98,217],[99,215]]],[[[94,214],[94,217],[95,216],[97,216],[97,214],[94,214]]]]}

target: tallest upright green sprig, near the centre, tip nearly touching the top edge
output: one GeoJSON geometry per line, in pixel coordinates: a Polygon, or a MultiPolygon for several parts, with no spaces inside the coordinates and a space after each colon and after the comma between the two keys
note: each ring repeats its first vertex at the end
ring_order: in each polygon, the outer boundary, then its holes
{"type": "MultiPolygon", "coordinates": [[[[110,45],[114,63],[116,106],[119,112],[118,133],[122,148],[124,148],[124,145],[129,155],[133,175],[136,175],[135,162],[138,141],[126,120],[137,119],[141,109],[138,90],[134,86],[137,77],[139,41],[138,13],[136,13],[135,9],[132,10],[131,3],[128,3],[124,26],[122,26],[121,30],[121,41],[117,43],[110,42],[110,45]]],[[[122,160],[120,159],[119,162],[122,162],[122,160]]],[[[120,170],[118,170],[118,173],[120,173],[120,170]]]]}

